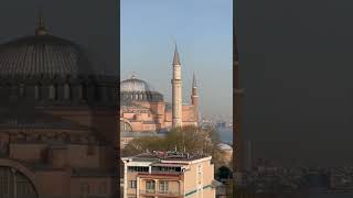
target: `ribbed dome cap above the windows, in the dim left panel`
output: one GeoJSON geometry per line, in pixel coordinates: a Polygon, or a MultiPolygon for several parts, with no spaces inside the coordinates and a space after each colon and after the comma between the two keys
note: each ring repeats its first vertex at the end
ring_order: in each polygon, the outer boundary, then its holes
{"type": "MultiPolygon", "coordinates": [[[[53,35],[21,37],[0,45],[0,76],[97,74],[77,44],[53,35]]],[[[101,74],[101,72],[100,72],[101,74]]]]}

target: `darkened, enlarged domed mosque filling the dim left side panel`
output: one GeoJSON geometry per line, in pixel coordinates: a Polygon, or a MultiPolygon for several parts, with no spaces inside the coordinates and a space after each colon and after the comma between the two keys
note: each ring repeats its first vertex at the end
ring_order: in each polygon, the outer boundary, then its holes
{"type": "Polygon", "coordinates": [[[118,197],[119,78],[51,35],[0,44],[0,197],[118,197]]]}

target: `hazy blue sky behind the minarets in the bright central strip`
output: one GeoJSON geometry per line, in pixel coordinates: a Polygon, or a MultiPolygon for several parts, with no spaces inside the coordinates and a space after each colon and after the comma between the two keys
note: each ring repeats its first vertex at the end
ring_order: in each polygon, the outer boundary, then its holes
{"type": "Polygon", "coordinates": [[[121,79],[132,72],[171,101],[174,41],[183,101],[195,72],[202,116],[232,118],[232,0],[121,0],[121,79]]]}

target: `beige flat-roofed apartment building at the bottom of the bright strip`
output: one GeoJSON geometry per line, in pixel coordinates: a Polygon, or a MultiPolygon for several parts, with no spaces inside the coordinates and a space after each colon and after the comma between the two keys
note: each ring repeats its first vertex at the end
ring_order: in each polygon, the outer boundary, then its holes
{"type": "Polygon", "coordinates": [[[176,152],[124,157],[124,197],[214,198],[214,165],[211,158],[176,152]]]}

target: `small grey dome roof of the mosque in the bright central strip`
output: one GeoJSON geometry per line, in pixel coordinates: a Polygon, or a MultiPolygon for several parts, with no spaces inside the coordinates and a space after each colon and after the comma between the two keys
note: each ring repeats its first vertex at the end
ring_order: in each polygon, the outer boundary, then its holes
{"type": "Polygon", "coordinates": [[[130,79],[126,79],[120,82],[120,91],[122,92],[150,92],[153,89],[141,79],[137,79],[132,76],[130,79]]]}

